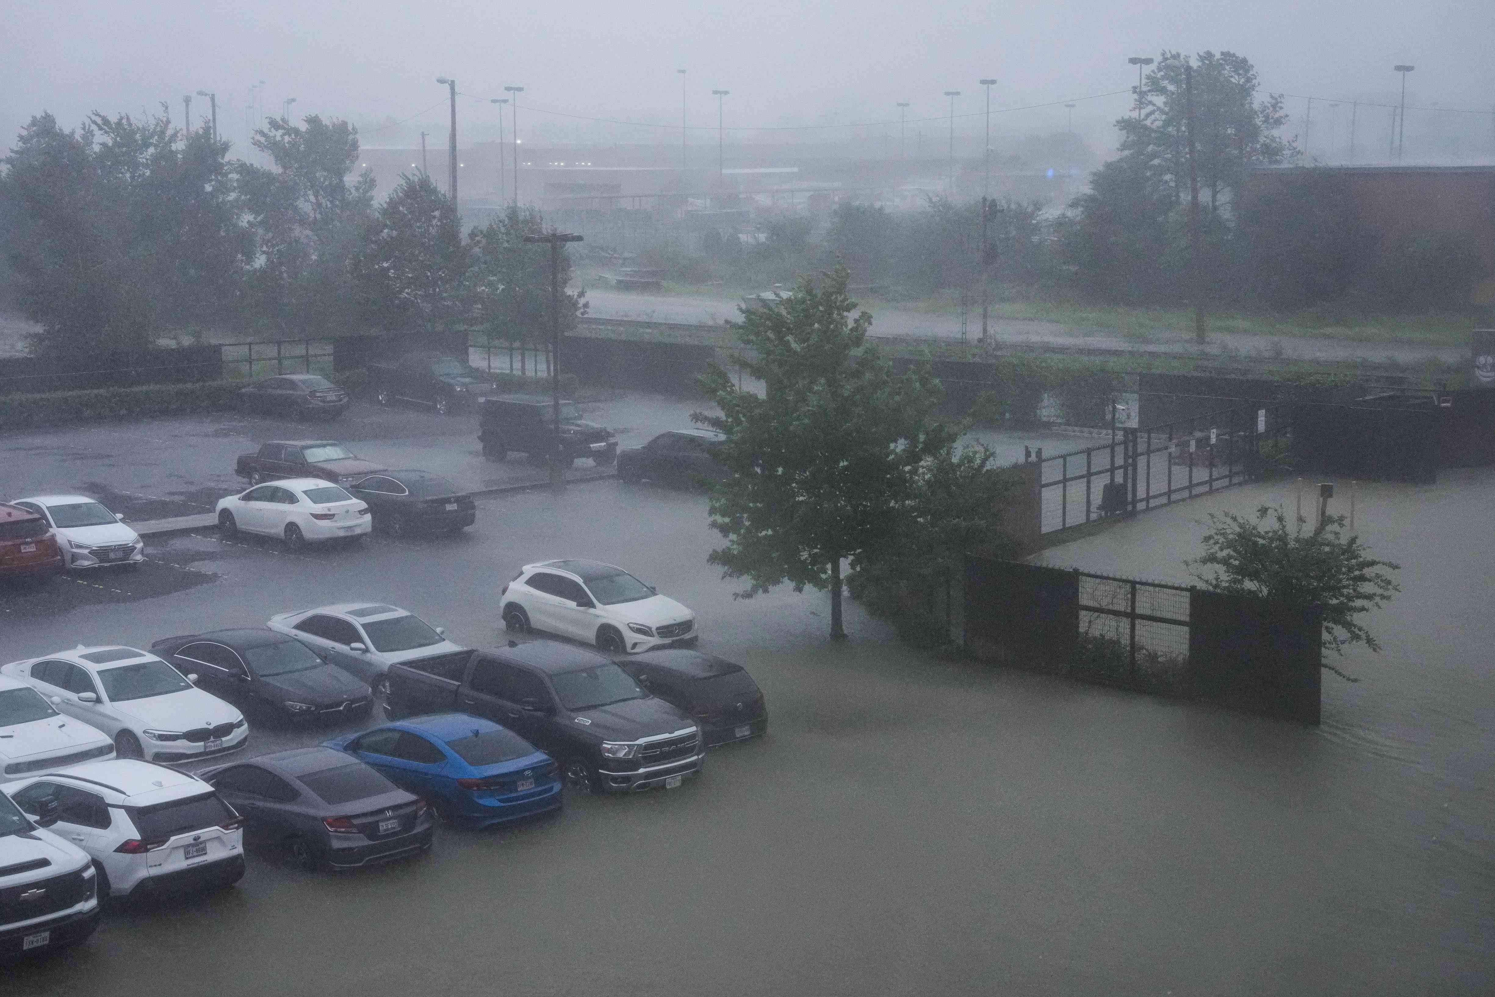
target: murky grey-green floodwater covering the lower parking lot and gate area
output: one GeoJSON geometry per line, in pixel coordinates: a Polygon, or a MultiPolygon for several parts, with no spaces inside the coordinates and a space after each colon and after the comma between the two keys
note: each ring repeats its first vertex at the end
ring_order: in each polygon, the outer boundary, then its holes
{"type": "MultiPolygon", "coordinates": [[[[353,598],[490,644],[520,564],[582,555],[683,598],[703,647],[762,685],[770,735],[713,752],[679,791],[447,831],[422,861],[327,877],[257,852],[238,888],[111,913],[0,990],[1489,994],[1492,481],[1359,489],[1357,525],[1407,565],[1404,592],[1372,620],[1384,653],[1344,662],[1360,682],[1326,677],[1319,729],[934,661],[857,607],[852,640],[830,644],[819,593],[733,599],[704,562],[700,496],[617,481],[484,501],[450,543],[292,559],[181,541],[215,580],[0,616],[6,653],[353,598]]],[[[1224,492],[1046,556],[1177,578],[1196,519],[1283,495],[1224,492]]]]}

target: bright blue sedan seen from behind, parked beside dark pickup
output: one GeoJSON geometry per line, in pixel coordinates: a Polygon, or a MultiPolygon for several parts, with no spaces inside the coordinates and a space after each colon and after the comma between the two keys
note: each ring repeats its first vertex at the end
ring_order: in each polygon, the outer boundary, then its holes
{"type": "Polygon", "coordinates": [[[559,765],[508,728],[468,713],[416,716],[323,744],[425,797],[453,824],[483,827],[561,807],[559,765]]]}

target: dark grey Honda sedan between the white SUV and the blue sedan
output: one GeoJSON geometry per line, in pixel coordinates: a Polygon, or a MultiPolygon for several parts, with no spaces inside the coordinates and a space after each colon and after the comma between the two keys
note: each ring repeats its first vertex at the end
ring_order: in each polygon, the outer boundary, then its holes
{"type": "Polygon", "coordinates": [[[245,837],[303,868],[354,868],[417,855],[437,825],[426,801],[356,758],[298,747],[197,773],[244,818],[245,837]]]}

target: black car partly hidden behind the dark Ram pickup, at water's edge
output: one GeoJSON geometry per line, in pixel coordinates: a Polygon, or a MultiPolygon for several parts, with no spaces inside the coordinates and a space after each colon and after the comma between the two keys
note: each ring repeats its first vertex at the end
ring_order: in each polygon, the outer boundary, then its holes
{"type": "Polygon", "coordinates": [[[617,662],[644,689],[691,714],[706,746],[768,731],[762,689],[742,665],[698,650],[646,650],[617,662]]]}

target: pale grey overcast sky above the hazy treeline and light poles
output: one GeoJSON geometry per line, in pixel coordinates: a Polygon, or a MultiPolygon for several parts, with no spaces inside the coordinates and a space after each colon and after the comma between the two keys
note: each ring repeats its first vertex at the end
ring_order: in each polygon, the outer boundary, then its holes
{"type": "MultiPolygon", "coordinates": [[[[220,130],[239,141],[260,79],[265,112],[296,97],[293,114],[365,123],[371,146],[408,141],[411,129],[446,141],[440,75],[466,96],[463,143],[489,138],[492,108],[477,99],[504,85],[526,88],[522,129],[562,120],[543,111],[677,123],[682,67],[697,126],[716,124],[713,88],[731,90],[728,126],[891,120],[900,100],[910,118],[934,117],[946,112],[945,90],[963,91],[957,112],[979,111],[982,76],[1000,81],[993,108],[1124,91],[1136,82],[1126,58],[1165,46],[1230,49],[1256,63],[1266,88],[1326,99],[1389,99],[1392,64],[1411,63],[1410,103],[1495,109],[1495,0],[10,0],[4,16],[6,145],[43,109],[73,127],[94,109],[139,114],[170,100],[179,123],[182,94],[197,90],[217,91],[220,130]],[[368,127],[386,118],[413,123],[368,127]]],[[[1127,102],[1079,100],[1075,126],[1103,136],[1127,102]]],[[[197,97],[193,117],[206,111],[197,97]]],[[[1011,114],[994,130],[1057,129],[1063,114],[1011,114]]],[[[1470,123],[1495,127],[1489,115],[1470,123]]],[[[679,132],[662,135],[679,142],[679,132]]]]}

